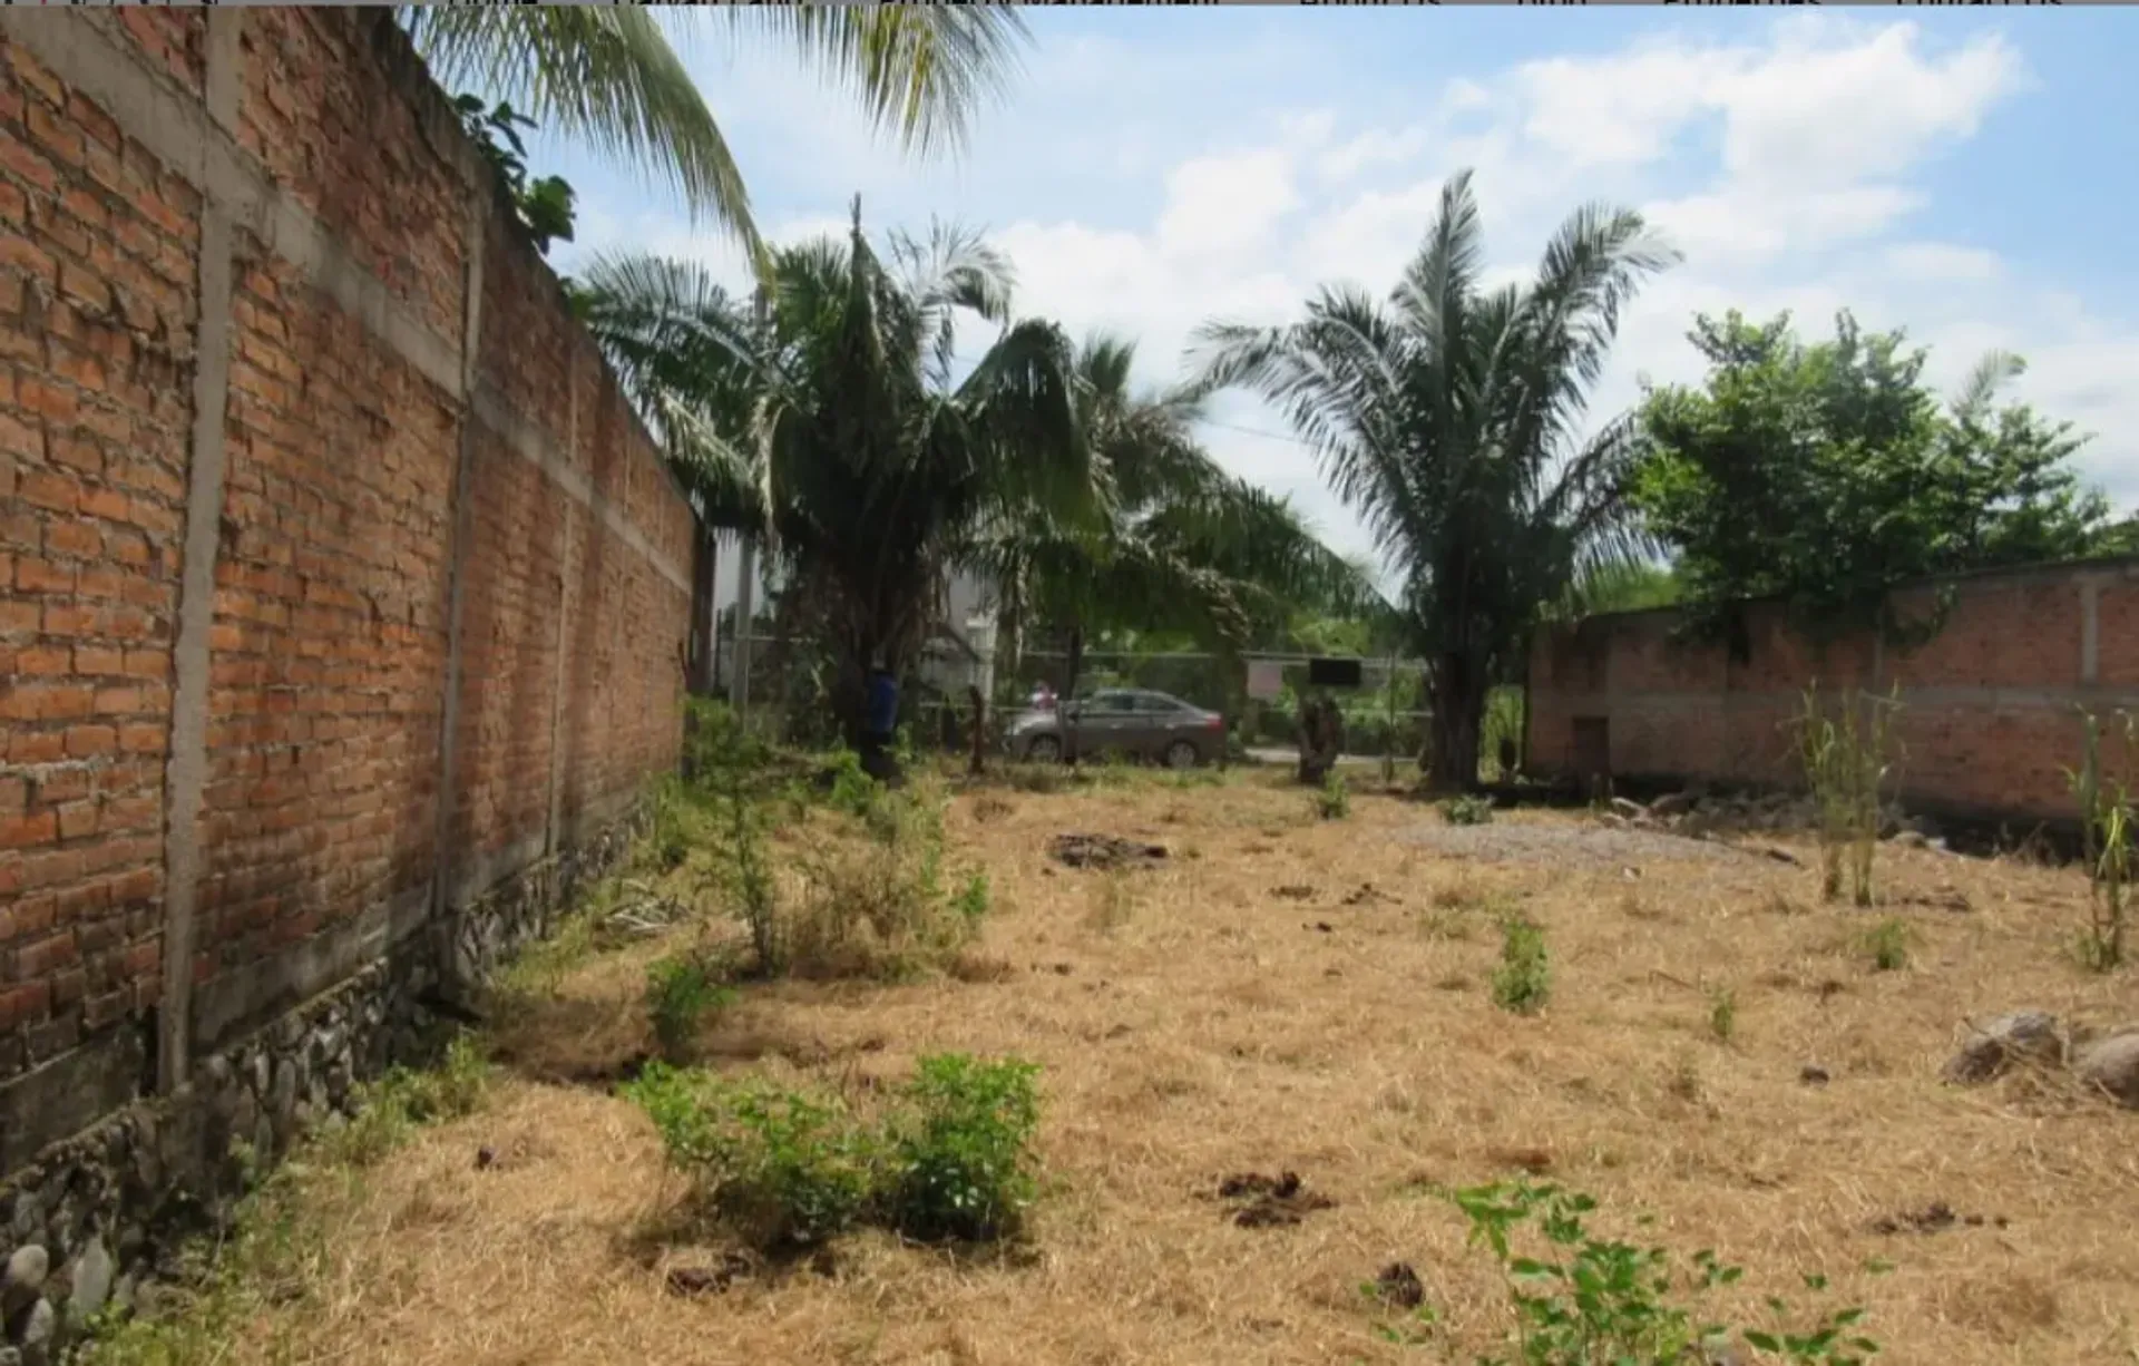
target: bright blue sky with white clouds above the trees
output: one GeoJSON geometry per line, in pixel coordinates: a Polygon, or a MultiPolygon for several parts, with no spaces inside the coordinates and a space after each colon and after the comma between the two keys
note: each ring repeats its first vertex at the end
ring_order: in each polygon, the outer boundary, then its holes
{"type": "MultiPolygon", "coordinates": [[[[969,150],[915,162],[798,60],[672,15],[774,237],[864,222],[982,227],[1020,312],[1140,342],[1153,385],[1211,319],[1281,321],[1320,282],[1386,289],[1442,180],[1476,171],[1495,269],[1521,271],[1587,199],[1645,209],[1686,254],[1628,312],[1598,413],[1636,376],[1688,381],[1696,310],[1837,308],[1908,327],[1957,381],[1991,346],[2015,395],[2094,440],[2139,507],[2139,11],[1966,9],[1031,9],[1033,45],[969,150]]],[[[693,254],[742,282],[678,205],[567,145],[580,190],[552,252],[693,254]]],[[[1348,552],[1356,522],[1281,421],[1224,400],[1204,436],[1348,552]]]]}

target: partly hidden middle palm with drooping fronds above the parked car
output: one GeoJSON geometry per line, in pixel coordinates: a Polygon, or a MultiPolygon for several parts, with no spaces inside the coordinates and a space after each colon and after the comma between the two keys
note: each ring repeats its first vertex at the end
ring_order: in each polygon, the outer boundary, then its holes
{"type": "Polygon", "coordinates": [[[1093,633],[1181,631],[1230,654],[1294,607],[1343,611],[1367,594],[1283,498],[1211,460],[1191,432],[1191,398],[1134,393],[1134,342],[1108,336],[1076,357],[1099,515],[980,528],[969,554],[997,586],[1012,654],[1027,624],[1067,637],[1065,697],[1093,633]]]}

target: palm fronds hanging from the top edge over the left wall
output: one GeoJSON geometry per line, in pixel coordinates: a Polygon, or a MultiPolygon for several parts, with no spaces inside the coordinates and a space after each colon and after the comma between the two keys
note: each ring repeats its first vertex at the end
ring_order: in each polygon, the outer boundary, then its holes
{"type": "MultiPolygon", "coordinates": [[[[965,141],[973,111],[1016,66],[1025,19],[1003,6],[725,6],[862,100],[907,148],[965,141]]],[[[759,257],[742,173],[652,11],[625,4],[402,6],[447,86],[475,86],[682,192],[759,257]]]]}

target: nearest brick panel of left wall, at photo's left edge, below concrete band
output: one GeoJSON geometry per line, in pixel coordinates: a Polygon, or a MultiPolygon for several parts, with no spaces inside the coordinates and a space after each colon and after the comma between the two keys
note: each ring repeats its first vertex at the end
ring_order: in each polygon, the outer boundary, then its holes
{"type": "Polygon", "coordinates": [[[199,197],[26,49],[0,53],[9,1077],[154,1003],[199,197]]]}

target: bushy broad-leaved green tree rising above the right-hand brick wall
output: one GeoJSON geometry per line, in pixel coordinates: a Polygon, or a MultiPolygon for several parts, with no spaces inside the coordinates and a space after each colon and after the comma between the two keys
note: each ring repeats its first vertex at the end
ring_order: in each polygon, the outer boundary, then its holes
{"type": "Polygon", "coordinates": [[[2071,425],[1998,404],[2017,357],[1985,357],[1942,406],[1921,348],[1846,312],[1831,342],[1737,312],[1698,319],[1692,342],[1709,376],[1647,395],[1636,502],[1709,631],[1773,596],[1812,633],[1906,641],[1936,620],[1893,616],[1897,579],[2079,558],[2107,519],[2068,464],[2071,425]]]}

